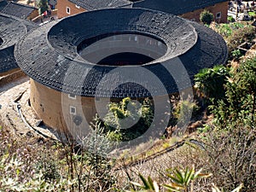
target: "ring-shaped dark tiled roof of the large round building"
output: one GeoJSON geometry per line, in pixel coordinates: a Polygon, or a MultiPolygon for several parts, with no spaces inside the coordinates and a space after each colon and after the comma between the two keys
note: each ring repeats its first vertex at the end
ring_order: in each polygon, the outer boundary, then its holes
{"type": "Polygon", "coordinates": [[[163,12],[103,9],[55,23],[22,38],[15,47],[15,57],[32,79],[79,96],[162,96],[188,88],[201,68],[227,59],[224,39],[216,32],[163,12]],[[78,56],[77,46],[85,38],[113,32],[161,39],[167,53],[143,66],[125,67],[100,66],[78,56]]]}

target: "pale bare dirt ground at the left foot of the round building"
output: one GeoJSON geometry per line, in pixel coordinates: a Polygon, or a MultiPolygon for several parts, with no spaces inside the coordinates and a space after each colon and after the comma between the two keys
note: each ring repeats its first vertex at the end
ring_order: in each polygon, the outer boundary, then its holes
{"type": "Polygon", "coordinates": [[[38,117],[29,106],[29,95],[30,95],[30,82],[28,77],[16,79],[12,83],[5,84],[0,88],[0,118],[3,124],[8,127],[9,131],[17,137],[36,137],[36,138],[47,138],[53,137],[57,133],[46,126],[38,127],[38,117]],[[24,122],[21,119],[17,105],[20,106],[20,111],[26,119],[24,122]],[[36,131],[32,130],[29,126],[35,128],[36,131]],[[42,134],[38,134],[40,131],[42,134]],[[47,136],[47,137],[44,137],[47,136]]]}

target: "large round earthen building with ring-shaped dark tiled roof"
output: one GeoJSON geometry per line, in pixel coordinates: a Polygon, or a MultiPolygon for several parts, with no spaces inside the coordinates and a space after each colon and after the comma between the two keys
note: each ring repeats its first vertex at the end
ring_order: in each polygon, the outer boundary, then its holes
{"type": "Polygon", "coordinates": [[[175,15],[101,9],[26,34],[15,58],[31,78],[38,117],[76,129],[104,113],[108,101],[152,97],[155,104],[191,88],[201,68],[226,61],[227,47],[216,32],[175,15]]]}

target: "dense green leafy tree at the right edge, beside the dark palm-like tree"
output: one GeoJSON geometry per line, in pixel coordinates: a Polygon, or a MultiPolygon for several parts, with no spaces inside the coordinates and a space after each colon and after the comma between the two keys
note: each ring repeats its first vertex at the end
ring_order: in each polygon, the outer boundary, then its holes
{"type": "Polygon", "coordinates": [[[255,121],[256,57],[233,68],[226,87],[226,99],[211,108],[221,126],[237,119],[255,121]]]}

